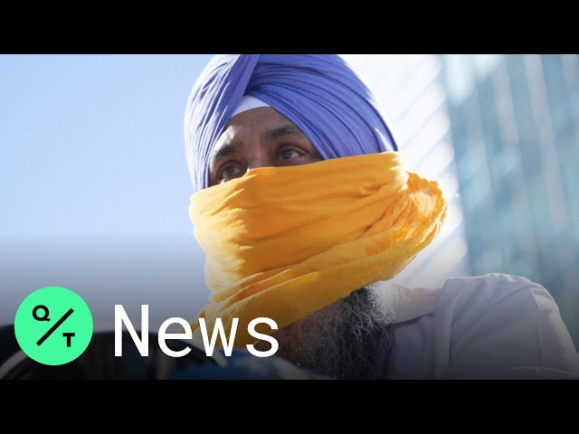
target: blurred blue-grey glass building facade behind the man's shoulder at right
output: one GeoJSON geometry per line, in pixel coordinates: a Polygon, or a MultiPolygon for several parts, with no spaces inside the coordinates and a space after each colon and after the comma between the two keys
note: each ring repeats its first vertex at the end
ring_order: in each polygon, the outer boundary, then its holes
{"type": "Polygon", "coordinates": [[[579,56],[442,61],[470,268],[543,285],[577,345],[579,56]]]}

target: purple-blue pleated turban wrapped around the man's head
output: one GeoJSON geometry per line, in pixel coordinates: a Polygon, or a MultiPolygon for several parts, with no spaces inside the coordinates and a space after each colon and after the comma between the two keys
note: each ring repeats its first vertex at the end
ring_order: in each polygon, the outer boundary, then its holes
{"type": "Polygon", "coordinates": [[[324,159],[397,151],[375,97],[330,54],[215,56],[185,109],[185,152],[195,191],[209,185],[209,156],[243,95],[295,123],[324,159]]]}

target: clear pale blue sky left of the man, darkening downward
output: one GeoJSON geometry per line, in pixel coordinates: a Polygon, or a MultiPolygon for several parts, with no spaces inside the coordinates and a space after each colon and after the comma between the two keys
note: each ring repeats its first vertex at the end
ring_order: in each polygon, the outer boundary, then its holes
{"type": "Polygon", "coordinates": [[[204,305],[183,117],[210,58],[0,55],[0,325],[51,285],[96,322],[114,303],[151,303],[152,322],[204,305]]]}

